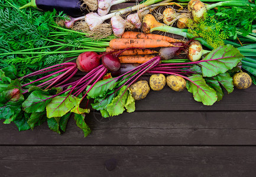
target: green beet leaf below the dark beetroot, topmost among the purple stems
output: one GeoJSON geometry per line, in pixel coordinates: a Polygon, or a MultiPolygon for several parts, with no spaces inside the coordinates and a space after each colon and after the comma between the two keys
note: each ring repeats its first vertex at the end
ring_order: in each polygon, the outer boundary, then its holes
{"type": "MultiPolygon", "coordinates": [[[[98,81],[88,92],[88,96],[92,99],[95,99],[96,97],[104,97],[107,91],[114,89],[115,86],[115,78],[108,78],[105,80],[98,81]]],[[[89,90],[89,88],[90,86],[87,87],[86,91],[89,90]]]]}

